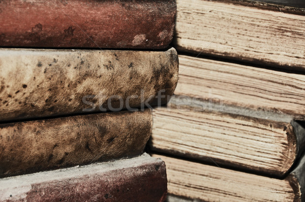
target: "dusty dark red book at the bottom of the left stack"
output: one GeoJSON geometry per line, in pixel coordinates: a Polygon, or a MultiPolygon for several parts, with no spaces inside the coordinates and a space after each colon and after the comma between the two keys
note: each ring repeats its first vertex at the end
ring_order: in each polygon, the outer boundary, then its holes
{"type": "Polygon", "coordinates": [[[140,157],[0,179],[0,201],[164,201],[165,164],[140,157]]]}

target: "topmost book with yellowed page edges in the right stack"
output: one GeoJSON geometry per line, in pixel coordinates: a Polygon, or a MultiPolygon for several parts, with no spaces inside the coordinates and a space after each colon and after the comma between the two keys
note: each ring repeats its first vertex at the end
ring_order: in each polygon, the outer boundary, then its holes
{"type": "Polygon", "coordinates": [[[260,5],[255,1],[177,0],[175,48],[304,71],[305,10],[290,8],[289,13],[287,7],[260,5]]]}

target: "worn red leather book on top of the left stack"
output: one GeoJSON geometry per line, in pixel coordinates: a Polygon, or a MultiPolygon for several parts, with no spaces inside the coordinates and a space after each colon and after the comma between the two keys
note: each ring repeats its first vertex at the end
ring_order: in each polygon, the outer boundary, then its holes
{"type": "Polygon", "coordinates": [[[0,11],[2,47],[160,49],[172,40],[176,3],[8,0],[0,11]]]}

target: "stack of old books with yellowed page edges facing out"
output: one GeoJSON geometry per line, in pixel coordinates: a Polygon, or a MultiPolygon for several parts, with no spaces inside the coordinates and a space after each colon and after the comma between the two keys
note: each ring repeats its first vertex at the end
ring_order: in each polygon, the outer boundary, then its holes
{"type": "Polygon", "coordinates": [[[177,0],[176,96],[149,143],[169,201],[305,201],[302,8],[177,0]]]}

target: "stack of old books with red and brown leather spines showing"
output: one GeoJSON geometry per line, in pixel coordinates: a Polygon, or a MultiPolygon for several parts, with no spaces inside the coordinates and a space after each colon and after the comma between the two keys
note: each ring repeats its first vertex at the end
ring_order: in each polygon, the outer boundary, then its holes
{"type": "Polygon", "coordinates": [[[175,14],[173,0],[0,2],[0,201],[165,199],[165,164],[143,149],[148,108],[176,87],[175,14]]]}

